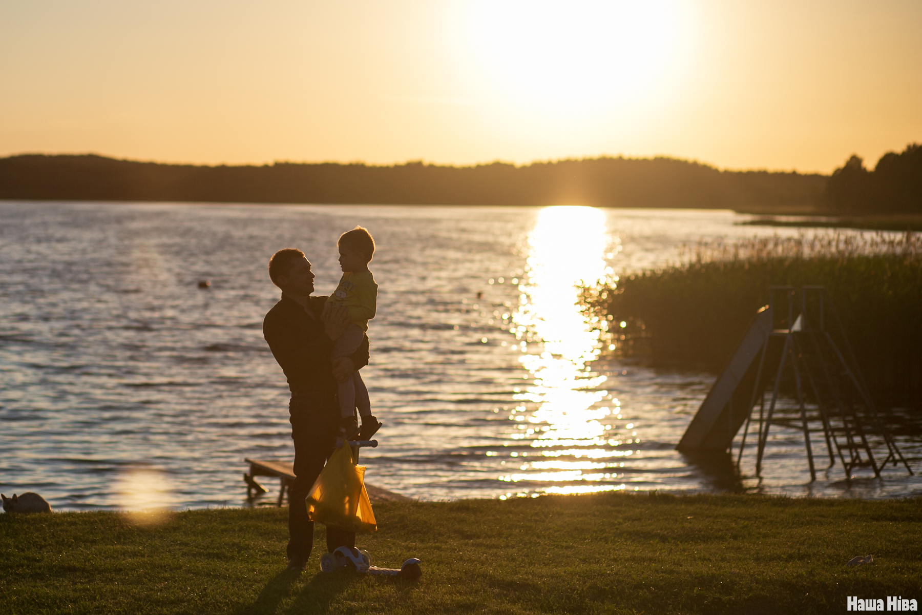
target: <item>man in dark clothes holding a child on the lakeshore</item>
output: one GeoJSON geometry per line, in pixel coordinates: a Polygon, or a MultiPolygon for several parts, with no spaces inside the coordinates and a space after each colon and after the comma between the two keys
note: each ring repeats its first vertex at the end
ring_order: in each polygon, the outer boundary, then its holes
{"type": "MultiPolygon", "coordinates": [[[[304,500],[333,454],[339,428],[337,381],[368,364],[368,337],[348,357],[330,360],[333,342],[349,325],[345,307],[311,297],[313,271],[301,250],[286,248],[269,259],[269,278],[282,291],[281,300],[263,321],[263,336],[288,379],[291,438],[294,440],[294,484],[289,491],[289,570],[304,570],[313,547],[313,521],[304,500]]],[[[355,533],[326,528],[326,549],[354,547],[355,533]]]]}

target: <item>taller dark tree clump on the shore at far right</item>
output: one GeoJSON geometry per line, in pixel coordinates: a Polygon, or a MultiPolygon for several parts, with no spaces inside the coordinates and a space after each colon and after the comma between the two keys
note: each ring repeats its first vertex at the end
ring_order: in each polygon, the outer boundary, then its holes
{"type": "Polygon", "coordinates": [[[874,171],[852,156],[833,171],[822,206],[838,214],[922,214],[922,146],[887,152],[874,171]]]}

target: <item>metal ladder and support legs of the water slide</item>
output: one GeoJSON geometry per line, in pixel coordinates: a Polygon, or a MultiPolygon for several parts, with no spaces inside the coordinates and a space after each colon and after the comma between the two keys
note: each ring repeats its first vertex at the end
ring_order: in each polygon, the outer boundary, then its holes
{"type": "Polygon", "coordinates": [[[825,288],[805,286],[798,297],[793,287],[771,287],[769,297],[768,309],[773,329],[762,347],[737,467],[742,460],[746,436],[758,405],[757,476],[761,476],[762,458],[773,424],[803,431],[810,478],[813,480],[816,479],[816,467],[810,433],[821,432],[829,455],[829,467],[835,464],[837,454],[845,468],[846,479],[851,479],[852,472],[858,467],[870,467],[874,476],[880,477],[881,470],[888,463],[897,466],[900,462],[912,475],[912,469],[881,422],[825,288]],[[780,307],[786,308],[786,311],[776,310],[779,307],[777,300],[781,298],[780,307]],[[775,324],[781,326],[774,328],[775,324]],[[772,360],[766,361],[767,356],[772,360]],[[775,363],[776,369],[773,369],[775,363]],[[766,411],[765,393],[769,384],[772,391],[766,411]],[[797,407],[783,408],[778,403],[779,396],[790,391],[795,393],[797,407]],[[817,422],[819,427],[811,427],[817,422]],[[875,447],[886,449],[882,461],[874,456],[875,447]]]}

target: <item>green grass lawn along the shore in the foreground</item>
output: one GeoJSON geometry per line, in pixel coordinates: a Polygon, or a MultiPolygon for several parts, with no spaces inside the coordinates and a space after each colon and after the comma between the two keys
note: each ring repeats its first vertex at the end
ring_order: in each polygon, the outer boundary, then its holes
{"type": "MultiPolygon", "coordinates": [[[[287,510],[0,515],[0,613],[840,613],[922,598],[922,502],[601,494],[382,503],[418,581],[285,572],[287,510]],[[848,567],[856,555],[874,562],[848,567]]],[[[322,526],[319,526],[322,528],[322,526]]]]}

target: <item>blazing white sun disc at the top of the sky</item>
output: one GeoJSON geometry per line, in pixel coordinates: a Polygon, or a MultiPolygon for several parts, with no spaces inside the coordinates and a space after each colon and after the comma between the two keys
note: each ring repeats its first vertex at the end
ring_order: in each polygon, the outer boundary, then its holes
{"type": "Polygon", "coordinates": [[[687,59],[678,1],[483,0],[462,18],[467,59],[491,95],[524,111],[625,109],[666,95],[687,59]]]}

